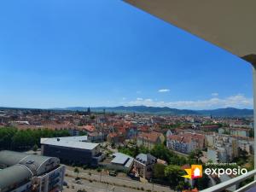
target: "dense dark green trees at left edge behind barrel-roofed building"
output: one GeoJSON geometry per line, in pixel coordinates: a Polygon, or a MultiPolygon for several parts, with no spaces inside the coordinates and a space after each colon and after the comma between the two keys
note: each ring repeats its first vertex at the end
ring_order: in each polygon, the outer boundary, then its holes
{"type": "Polygon", "coordinates": [[[68,131],[43,130],[18,130],[15,127],[0,129],[0,150],[26,150],[33,146],[40,146],[41,137],[67,137],[68,131]]]}

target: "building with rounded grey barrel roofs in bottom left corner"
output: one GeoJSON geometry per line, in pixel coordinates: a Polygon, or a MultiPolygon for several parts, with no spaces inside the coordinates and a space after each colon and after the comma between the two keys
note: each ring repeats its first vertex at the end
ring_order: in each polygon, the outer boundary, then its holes
{"type": "Polygon", "coordinates": [[[64,174],[55,157],[0,151],[0,192],[62,191],[64,174]]]}

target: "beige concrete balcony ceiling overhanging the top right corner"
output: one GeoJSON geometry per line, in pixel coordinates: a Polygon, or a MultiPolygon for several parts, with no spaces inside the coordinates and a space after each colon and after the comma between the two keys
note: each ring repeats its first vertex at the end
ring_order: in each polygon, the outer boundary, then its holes
{"type": "Polygon", "coordinates": [[[256,0],[124,0],[256,64],[256,0]]]}

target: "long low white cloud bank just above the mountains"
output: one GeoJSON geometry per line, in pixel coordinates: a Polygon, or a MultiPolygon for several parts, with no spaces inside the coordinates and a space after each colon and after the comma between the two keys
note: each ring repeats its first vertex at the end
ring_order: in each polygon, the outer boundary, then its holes
{"type": "Polygon", "coordinates": [[[145,105],[151,107],[207,109],[207,108],[252,108],[253,98],[241,94],[226,98],[211,98],[197,101],[159,102],[152,99],[137,98],[136,101],[127,102],[128,106],[145,105]]]}

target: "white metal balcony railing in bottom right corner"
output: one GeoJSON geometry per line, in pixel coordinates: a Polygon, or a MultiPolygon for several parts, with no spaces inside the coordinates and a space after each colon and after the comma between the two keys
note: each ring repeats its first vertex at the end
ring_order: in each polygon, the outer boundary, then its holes
{"type": "MultiPolygon", "coordinates": [[[[238,185],[239,183],[246,180],[247,178],[254,177],[254,176],[256,176],[256,170],[247,172],[247,174],[245,175],[232,178],[229,181],[226,181],[224,183],[219,183],[211,188],[201,190],[201,192],[220,192],[220,191],[223,191],[224,189],[230,188],[231,186],[238,185]]],[[[254,180],[252,183],[248,183],[247,185],[241,187],[240,189],[236,189],[235,192],[244,192],[244,191],[247,191],[248,189],[253,188],[253,186],[256,186],[256,180],[254,180]]]]}

